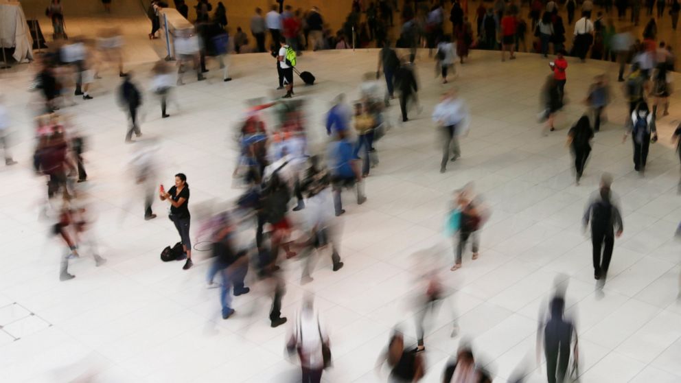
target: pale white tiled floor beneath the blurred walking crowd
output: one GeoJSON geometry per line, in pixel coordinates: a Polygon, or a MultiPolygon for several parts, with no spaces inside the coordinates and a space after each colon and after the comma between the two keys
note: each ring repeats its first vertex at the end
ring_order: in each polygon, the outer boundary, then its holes
{"type": "MultiPolygon", "coordinates": [[[[441,268],[455,289],[452,305],[443,305],[426,334],[427,382],[437,382],[459,342],[471,340],[478,361],[505,382],[522,369],[530,382],[544,379],[535,362],[538,313],[554,283],[567,286],[568,312],[577,322],[582,382],[678,382],[681,369],[679,244],[673,240],[681,212],[676,194],[678,157],[669,147],[672,121],[681,119],[679,97],[671,115],[660,121],[664,132],[651,146],[645,178],[633,172],[630,144],[621,144],[625,105],[614,84],[610,122],[595,138],[595,149],[581,186],[573,185],[566,130],[584,112],[579,100],[597,73],[612,73],[605,62],[586,65],[570,60],[567,92],[571,104],[559,115],[558,130],[541,137],[535,121],[538,90],[548,74],[546,60],[520,55],[499,62],[498,54],[474,52],[457,69],[454,80],[468,100],[472,130],[463,139],[463,158],[439,174],[437,131],[428,115],[447,89],[433,76],[422,52],[417,70],[424,114],[395,124],[377,144],[381,163],[367,179],[369,200],[361,207],[347,198],[341,254],[345,268],[331,272],[319,262],[315,280],[298,283],[299,265],[284,265],[288,281],[283,312],[294,312],[305,290],[332,334],[334,368],[326,382],[377,382],[373,371],[379,351],[395,325],[414,341],[413,298],[418,275],[441,268]],[[616,241],[612,273],[601,297],[595,293],[590,243],[580,218],[588,195],[603,171],[616,177],[625,232],[616,241]],[[475,181],[492,207],[482,232],[481,258],[465,256],[464,267],[449,271],[452,249],[443,237],[443,216],[451,193],[475,181]],[[454,313],[452,315],[452,312],[454,313]],[[452,318],[461,333],[450,338],[452,318]]],[[[192,210],[201,202],[229,200],[235,146],[231,137],[243,100],[272,95],[273,59],[267,55],[232,58],[233,82],[224,84],[210,62],[209,80],[177,89],[181,111],[171,106],[161,119],[157,100],[146,95],[141,125],[146,137],[159,137],[162,179],[185,172],[192,185],[192,210]]],[[[335,95],[357,96],[362,73],[376,65],[376,51],[306,53],[300,67],[318,78],[299,86],[297,97],[309,100],[311,141],[322,148],[323,113],[335,95]]],[[[151,62],[132,65],[137,81],[148,89],[151,62]]],[[[47,237],[47,223],[37,220],[45,193],[30,170],[31,115],[25,92],[28,66],[0,73],[0,89],[14,121],[15,167],[0,167],[0,306],[20,303],[36,313],[25,323],[21,339],[0,333],[3,382],[294,382],[297,367],[284,354],[286,329],[270,329],[266,288],[235,299],[237,314],[219,318],[218,291],[206,290],[207,262],[189,271],[159,260],[161,249],[176,240],[163,218],[142,220],[142,198],[126,163],[134,146],[123,143],[125,115],[115,106],[118,78],[104,73],[94,100],[76,99],[65,108],[89,134],[86,154],[91,181],[82,185],[97,211],[95,230],[108,264],[95,268],[91,258],[72,263],[77,278],[58,281],[60,244],[47,237]]],[[[189,77],[189,76],[187,76],[189,77]]],[[[681,80],[676,76],[675,80],[681,80]]],[[[389,111],[396,121],[398,111],[389,111]]],[[[192,225],[198,229],[198,222],[192,225]]],[[[0,318],[16,313],[0,310],[0,318]]],[[[12,328],[6,329],[12,332],[12,328]]]]}

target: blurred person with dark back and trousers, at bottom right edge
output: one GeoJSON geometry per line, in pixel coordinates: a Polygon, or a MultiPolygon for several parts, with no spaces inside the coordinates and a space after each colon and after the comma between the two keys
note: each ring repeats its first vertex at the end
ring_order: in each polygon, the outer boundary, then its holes
{"type": "Polygon", "coordinates": [[[574,351],[575,369],[579,364],[577,331],[573,323],[564,317],[565,300],[563,297],[553,297],[549,303],[549,310],[548,318],[542,318],[537,330],[537,360],[540,361],[540,351],[543,346],[548,382],[563,383],[568,378],[570,349],[574,351]],[[574,346],[570,347],[573,345],[573,340],[574,346]]]}

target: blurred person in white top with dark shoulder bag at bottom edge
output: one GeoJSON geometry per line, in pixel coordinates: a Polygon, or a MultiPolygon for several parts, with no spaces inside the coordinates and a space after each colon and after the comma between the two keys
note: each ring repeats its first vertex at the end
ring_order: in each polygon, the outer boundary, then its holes
{"type": "Polygon", "coordinates": [[[298,353],[301,382],[320,383],[324,369],[331,365],[331,349],[329,336],[310,295],[303,298],[303,306],[296,315],[286,348],[290,354],[298,353]]]}

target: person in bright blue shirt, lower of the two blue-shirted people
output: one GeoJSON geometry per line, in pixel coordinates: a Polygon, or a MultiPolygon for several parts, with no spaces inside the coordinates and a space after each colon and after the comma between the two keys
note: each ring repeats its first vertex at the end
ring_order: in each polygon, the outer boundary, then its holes
{"type": "Polygon", "coordinates": [[[341,191],[343,187],[357,187],[357,204],[367,200],[364,195],[362,176],[358,166],[358,160],[353,155],[354,144],[347,138],[347,130],[338,130],[336,132],[338,139],[332,141],[329,145],[329,171],[334,189],[334,207],[336,208],[336,216],[345,213],[343,210],[343,201],[341,200],[341,191]]]}

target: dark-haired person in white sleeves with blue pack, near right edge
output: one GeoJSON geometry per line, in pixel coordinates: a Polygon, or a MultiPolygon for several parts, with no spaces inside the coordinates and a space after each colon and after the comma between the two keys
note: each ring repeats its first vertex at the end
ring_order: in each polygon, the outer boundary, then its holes
{"type": "Polygon", "coordinates": [[[653,113],[650,113],[646,102],[640,102],[630,118],[631,124],[627,126],[622,143],[625,143],[629,135],[632,135],[632,143],[634,143],[634,170],[643,176],[648,158],[648,148],[651,142],[657,141],[658,137],[655,128],[655,116],[653,113]]]}

